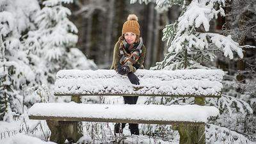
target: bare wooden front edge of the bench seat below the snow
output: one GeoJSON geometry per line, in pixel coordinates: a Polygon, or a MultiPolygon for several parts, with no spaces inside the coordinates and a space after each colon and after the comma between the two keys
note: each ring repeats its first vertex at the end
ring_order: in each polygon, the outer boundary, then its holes
{"type": "Polygon", "coordinates": [[[52,120],[52,121],[71,121],[71,122],[111,122],[111,123],[130,123],[130,124],[165,124],[165,125],[202,125],[204,122],[181,122],[181,121],[163,121],[163,120],[128,120],[111,118],[77,118],[77,117],[55,117],[55,116],[33,116],[32,120],[52,120]]]}

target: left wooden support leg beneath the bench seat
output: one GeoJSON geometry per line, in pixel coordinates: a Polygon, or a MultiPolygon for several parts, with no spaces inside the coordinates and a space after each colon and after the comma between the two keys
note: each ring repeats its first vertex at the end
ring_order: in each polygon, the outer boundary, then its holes
{"type": "Polygon", "coordinates": [[[83,136],[81,122],[47,120],[47,125],[51,130],[50,140],[55,143],[65,143],[65,140],[74,143],[83,136]]]}

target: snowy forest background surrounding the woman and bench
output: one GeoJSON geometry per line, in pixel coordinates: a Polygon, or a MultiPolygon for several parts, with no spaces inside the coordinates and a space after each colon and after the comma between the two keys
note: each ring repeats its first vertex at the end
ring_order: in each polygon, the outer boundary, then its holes
{"type": "MultiPolygon", "coordinates": [[[[30,122],[26,115],[35,102],[68,102],[68,99],[52,96],[58,70],[109,69],[122,25],[127,15],[135,13],[147,48],[145,68],[225,70],[222,97],[218,100],[207,99],[207,105],[216,106],[221,112],[218,120],[207,125],[208,141],[255,141],[255,0],[1,0],[0,7],[1,134],[21,130],[29,134],[41,124],[30,122]],[[198,19],[182,23],[184,17],[196,18],[187,13],[195,6],[205,10],[203,17],[206,20],[199,19],[198,24],[198,19]],[[208,15],[207,8],[216,17],[208,15]],[[180,24],[188,26],[180,30],[180,24]],[[184,33],[187,32],[193,38],[186,37],[184,33]],[[185,42],[189,40],[185,37],[191,38],[191,44],[185,42]],[[182,41],[184,45],[179,45],[179,38],[185,38],[182,41]],[[196,44],[200,44],[197,46],[202,49],[197,49],[196,44]]],[[[83,101],[97,103],[99,99],[83,101]]],[[[182,102],[183,99],[144,101],[146,104],[182,102]]],[[[43,125],[42,129],[45,130],[45,127],[43,125]]],[[[166,140],[177,138],[177,133],[167,126],[163,129],[155,125],[154,129],[150,128],[152,131],[148,128],[152,125],[141,127],[141,132],[149,136],[153,131],[159,137],[164,133],[166,140]]],[[[49,130],[46,133],[49,136],[49,130]]],[[[38,135],[42,140],[48,138],[44,132],[38,135]]]]}

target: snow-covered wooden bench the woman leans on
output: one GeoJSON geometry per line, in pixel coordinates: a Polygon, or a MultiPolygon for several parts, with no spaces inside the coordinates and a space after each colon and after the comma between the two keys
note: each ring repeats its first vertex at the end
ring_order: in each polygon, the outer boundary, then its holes
{"type": "Polygon", "coordinates": [[[177,125],[180,143],[205,143],[205,123],[218,109],[205,105],[205,97],[221,97],[222,70],[137,70],[140,85],[133,85],[115,70],[60,70],[54,95],[72,96],[70,103],[37,103],[29,118],[47,120],[51,141],[77,141],[81,121],[177,125]],[[193,105],[79,104],[80,96],[195,97],[193,105]],[[77,103],[76,103],[77,102],[77,103]],[[140,111],[138,111],[138,109],[140,111]]]}

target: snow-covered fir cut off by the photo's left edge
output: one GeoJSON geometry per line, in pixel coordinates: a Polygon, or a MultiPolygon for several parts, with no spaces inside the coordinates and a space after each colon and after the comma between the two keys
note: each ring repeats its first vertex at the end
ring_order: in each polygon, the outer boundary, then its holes
{"type": "MultiPolygon", "coordinates": [[[[26,14],[36,10],[36,7],[29,9],[27,6],[25,13],[21,3],[1,1],[0,4],[0,120],[9,122],[13,115],[19,115],[23,111],[23,88],[35,82],[35,74],[29,67],[21,33],[26,33],[31,26],[26,14]]],[[[30,4],[33,6],[34,3],[30,4]]]]}

